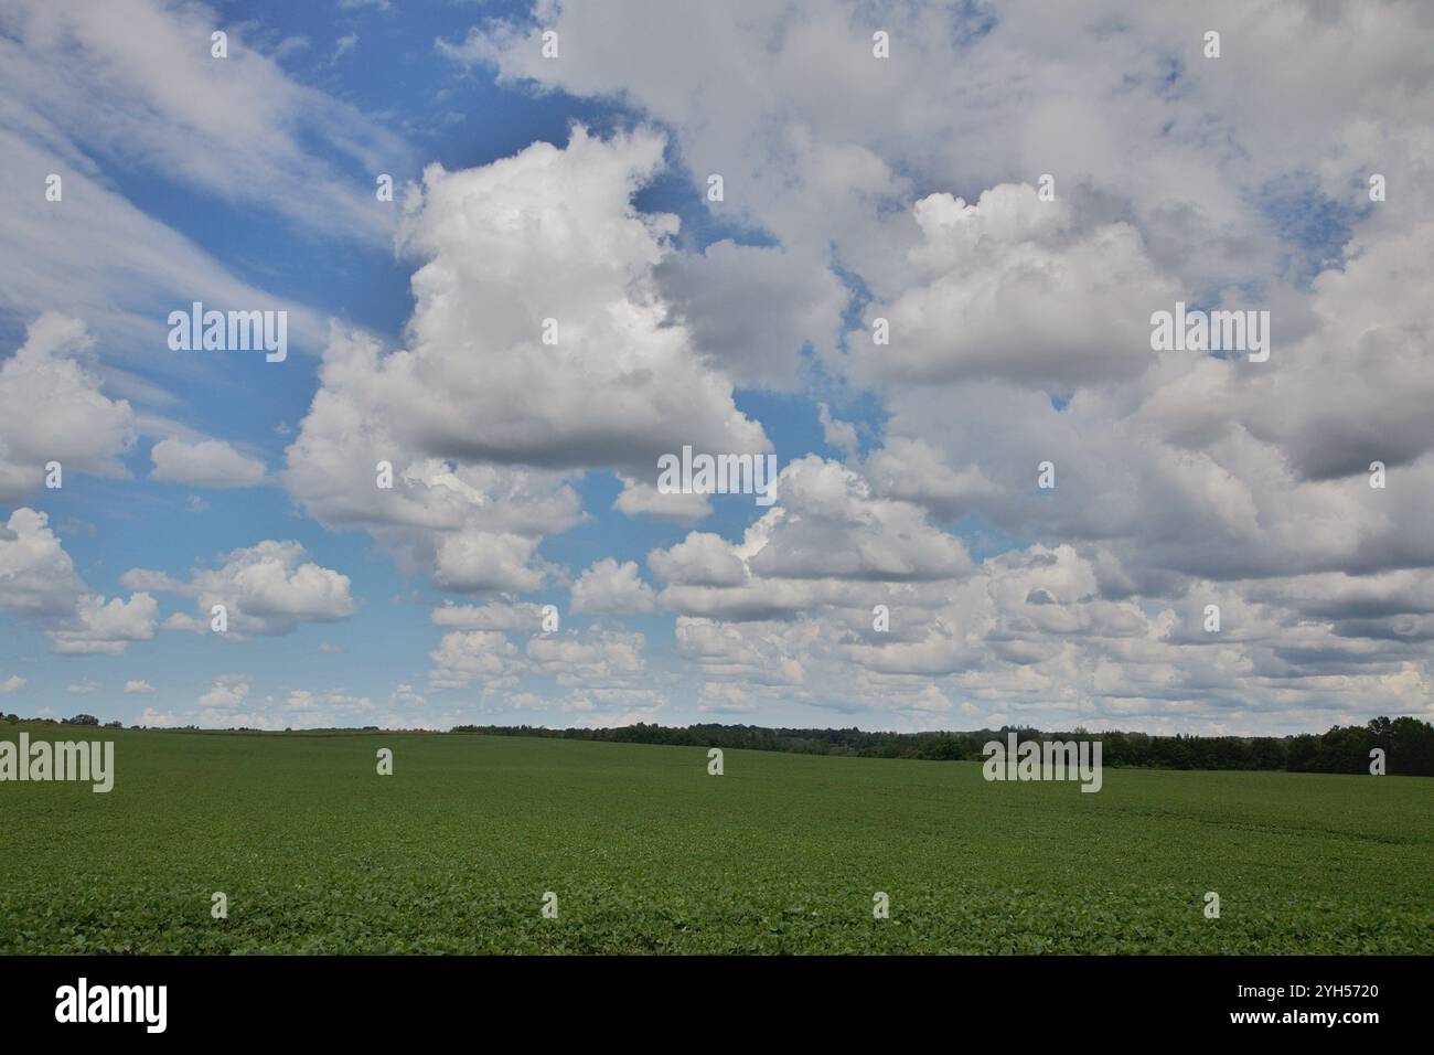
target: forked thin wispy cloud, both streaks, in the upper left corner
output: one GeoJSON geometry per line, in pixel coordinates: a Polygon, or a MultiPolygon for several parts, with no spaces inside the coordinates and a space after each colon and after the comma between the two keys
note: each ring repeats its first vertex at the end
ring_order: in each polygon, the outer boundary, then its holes
{"type": "MultiPolygon", "coordinates": [[[[63,181],[62,201],[0,201],[0,309],[83,319],[102,340],[106,388],[136,403],[175,402],[149,380],[161,359],[166,383],[181,388],[215,370],[212,357],[176,360],[163,342],[166,313],[192,300],[287,310],[290,340],[301,346],[317,344],[324,330],[304,306],[235,278],[136,208],[109,167],[376,245],[390,237],[394,211],[374,201],[369,174],[412,171],[399,139],[245,47],[244,29],[229,24],[229,57],[211,59],[218,22],[202,4],[158,0],[83,14],[43,0],[0,6],[0,181],[63,181]],[[336,152],[347,155],[337,165],[328,161],[336,152]],[[138,372],[141,363],[151,369],[138,372]]],[[[138,423],[146,435],[175,428],[145,416],[138,423]]]]}

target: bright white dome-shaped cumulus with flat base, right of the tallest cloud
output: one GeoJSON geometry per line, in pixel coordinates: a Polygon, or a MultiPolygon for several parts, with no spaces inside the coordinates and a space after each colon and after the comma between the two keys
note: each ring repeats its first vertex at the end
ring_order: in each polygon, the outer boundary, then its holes
{"type": "Polygon", "coordinates": [[[921,241],[905,287],[872,303],[850,334],[859,380],[1005,378],[1070,390],[1144,372],[1150,313],[1179,297],[1130,224],[1080,224],[1063,200],[1002,184],[968,205],[932,194],[912,207],[921,241]],[[872,340],[885,317],[891,343],[872,340]]]}

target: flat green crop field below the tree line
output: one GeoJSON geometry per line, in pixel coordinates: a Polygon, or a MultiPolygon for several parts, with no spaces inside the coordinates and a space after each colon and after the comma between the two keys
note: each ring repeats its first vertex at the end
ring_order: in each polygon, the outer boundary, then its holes
{"type": "Polygon", "coordinates": [[[1430,778],[20,729],[116,781],[0,784],[3,953],[1434,952],[1430,778]]]}

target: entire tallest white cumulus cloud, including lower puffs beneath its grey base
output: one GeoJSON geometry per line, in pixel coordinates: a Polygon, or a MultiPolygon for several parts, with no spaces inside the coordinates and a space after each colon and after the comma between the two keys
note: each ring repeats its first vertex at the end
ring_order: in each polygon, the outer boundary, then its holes
{"type": "Polygon", "coordinates": [[[364,527],[440,587],[533,590],[552,578],[538,544],[581,517],[568,474],[618,471],[619,510],[691,517],[700,495],[652,489],[660,455],[770,449],[663,299],[677,221],[631,202],[661,161],[651,132],[574,128],[561,149],[430,167],[403,231],[422,261],[409,346],[334,332],[287,455],[305,510],[364,527]]]}

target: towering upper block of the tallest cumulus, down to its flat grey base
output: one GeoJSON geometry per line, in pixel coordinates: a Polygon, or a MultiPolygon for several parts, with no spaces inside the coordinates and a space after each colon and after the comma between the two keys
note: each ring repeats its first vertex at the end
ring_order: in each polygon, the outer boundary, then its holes
{"type": "Polygon", "coordinates": [[[424,261],[410,347],[370,379],[414,444],[648,474],[684,442],[769,449],[688,330],[664,324],[652,268],[677,220],[631,204],[663,146],[650,132],[604,141],[578,126],[562,149],[535,144],[483,168],[424,172],[404,233],[424,261]]]}

